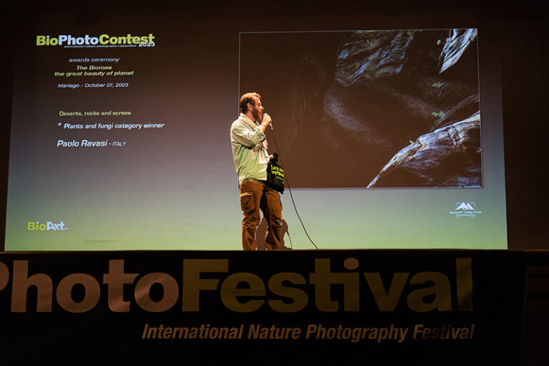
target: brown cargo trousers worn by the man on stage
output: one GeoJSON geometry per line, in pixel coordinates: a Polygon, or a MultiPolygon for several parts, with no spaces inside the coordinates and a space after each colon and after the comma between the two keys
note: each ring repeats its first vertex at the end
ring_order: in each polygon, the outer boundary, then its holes
{"type": "Polygon", "coordinates": [[[265,244],[267,250],[277,250],[282,244],[282,203],[280,195],[267,183],[255,179],[247,179],[240,185],[240,206],[244,219],[242,219],[242,248],[244,250],[257,250],[255,230],[261,219],[259,210],[263,212],[267,220],[267,233],[265,244]]]}

